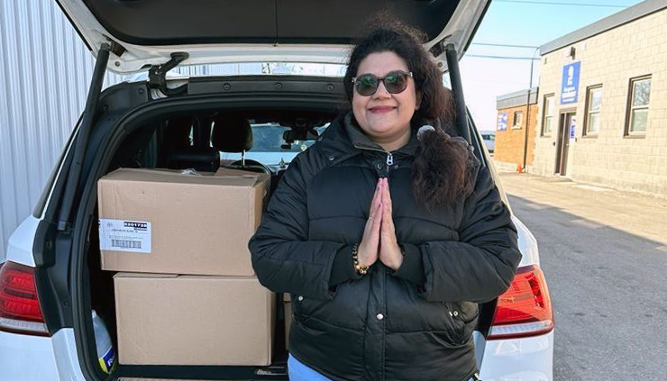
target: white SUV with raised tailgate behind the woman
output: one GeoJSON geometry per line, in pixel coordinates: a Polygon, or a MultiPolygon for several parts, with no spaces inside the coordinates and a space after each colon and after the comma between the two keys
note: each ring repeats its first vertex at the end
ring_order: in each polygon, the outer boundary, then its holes
{"type": "MultiPolygon", "coordinates": [[[[287,380],[288,353],[280,342],[269,367],[119,364],[111,375],[102,371],[91,313],[95,310],[105,319],[115,342],[115,305],[113,274],[99,269],[97,180],[115,168],[168,167],[173,141],[186,139],[188,147],[202,152],[215,150],[210,118],[219,112],[242,113],[265,128],[288,127],[286,143],[308,141],[307,149],[316,132],[340,113],[342,78],[169,78],[166,73],[178,65],[222,62],[340,64],[367,12],[379,10],[385,2],[368,1],[362,8],[352,0],[335,2],[334,7],[331,2],[305,0],[278,2],[275,7],[258,1],[58,3],[96,56],[96,68],[80,122],[32,215],[10,238],[0,268],[0,379],[287,380]],[[149,69],[148,80],[124,82],[100,93],[107,64],[119,73],[149,69]],[[186,129],[168,128],[183,118],[195,122],[186,129]],[[176,136],[177,131],[184,134],[176,136]]],[[[458,70],[447,68],[458,65],[489,3],[435,0],[392,5],[407,23],[427,32],[430,41],[425,48],[443,73],[452,73],[458,70]]],[[[462,96],[460,78],[451,77],[454,95],[462,96]]],[[[462,110],[461,135],[468,137],[482,165],[492,168],[481,149],[482,135],[462,110]]],[[[289,159],[257,160],[253,165],[266,169],[277,183],[289,159]]],[[[507,293],[480,306],[473,336],[480,377],[551,381],[554,325],[549,292],[535,238],[516,217],[514,222],[523,259],[507,293]]]]}

